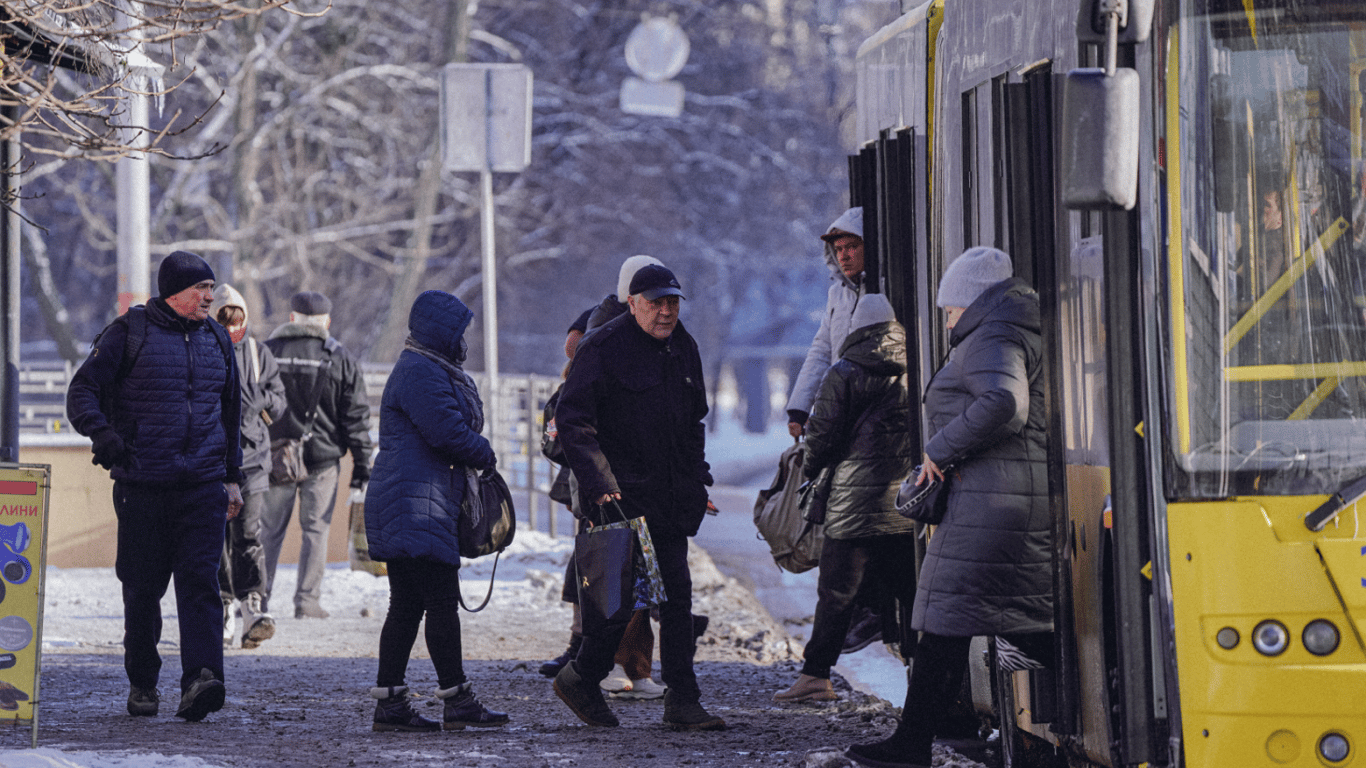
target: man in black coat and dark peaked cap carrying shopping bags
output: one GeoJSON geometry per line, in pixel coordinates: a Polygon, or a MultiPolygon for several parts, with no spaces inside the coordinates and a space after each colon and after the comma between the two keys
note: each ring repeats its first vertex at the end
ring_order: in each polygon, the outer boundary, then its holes
{"type": "MultiPolygon", "coordinates": [[[[608,522],[602,506],[620,503],[643,517],[654,540],[667,600],[660,605],[664,722],[672,728],[716,730],[725,720],[706,712],[693,656],[693,577],[687,540],[708,510],[706,388],[697,342],[679,324],[683,291],[660,265],[631,279],[628,312],[587,333],[560,392],[560,444],[585,512],[608,522]]],[[[590,726],[617,726],[598,683],[612,670],[628,620],[583,616],[583,645],[555,676],[553,687],[590,726]]]]}

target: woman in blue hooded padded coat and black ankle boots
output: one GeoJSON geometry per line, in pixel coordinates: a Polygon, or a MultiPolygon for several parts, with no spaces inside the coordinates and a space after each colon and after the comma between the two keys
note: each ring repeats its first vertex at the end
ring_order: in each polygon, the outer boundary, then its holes
{"type": "Polygon", "coordinates": [[[484,403],[464,372],[464,332],[474,313],[443,291],[426,291],[408,313],[408,339],[380,404],[380,455],[365,495],[370,558],[388,564],[389,612],[380,631],[380,670],[370,696],[376,731],[501,726],[464,676],[460,650],[460,503],[466,470],[496,463],[479,435],[484,403]],[[408,704],[408,656],[426,615],[444,723],[408,704]]]}

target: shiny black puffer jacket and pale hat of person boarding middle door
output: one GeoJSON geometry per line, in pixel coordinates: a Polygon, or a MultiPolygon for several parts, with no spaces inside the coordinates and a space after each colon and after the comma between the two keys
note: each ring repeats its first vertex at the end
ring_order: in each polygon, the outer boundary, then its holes
{"type": "Polygon", "coordinates": [[[906,329],[896,320],[865,323],[862,314],[861,306],[856,329],[821,381],[806,422],[802,471],[816,477],[822,467],[835,467],[826,538],[915,533],[915,523],[897,514],[895,504],[917,454],[910,432],[906,329]]]}

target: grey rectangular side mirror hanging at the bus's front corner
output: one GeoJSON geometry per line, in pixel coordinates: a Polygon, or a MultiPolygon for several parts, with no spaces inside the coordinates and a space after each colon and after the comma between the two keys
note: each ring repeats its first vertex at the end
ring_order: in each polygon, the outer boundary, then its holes
{"type": "Polygon", "coordinates": [[[1063,204],[1128,210],[1138,202],[1138,72],[1072,70],[1063,90],[1063,204]]]}

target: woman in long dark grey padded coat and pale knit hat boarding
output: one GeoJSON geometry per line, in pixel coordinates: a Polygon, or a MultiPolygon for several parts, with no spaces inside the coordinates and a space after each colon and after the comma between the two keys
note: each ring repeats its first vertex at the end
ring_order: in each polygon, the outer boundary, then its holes
{"type": "Polygon", "coordinates": [[[996,635],[1012,668],[1053,657],[1040,307],[1011,273],[1008,254],[979,246],[940,282],[951,350],[925,392],[932,437],[917,484],[947,474],[948,511],[917,585],[911,626],[922,634],[902,722],[888,739],[848,748],[862,765],[930,764],[974,635],[996,635]]]}

